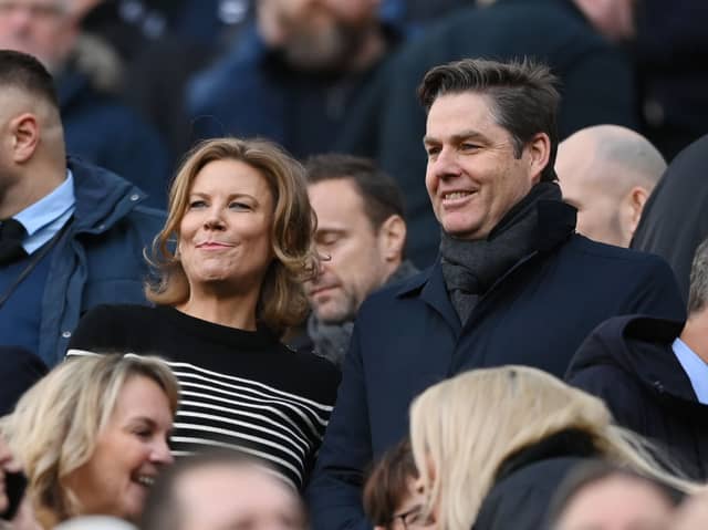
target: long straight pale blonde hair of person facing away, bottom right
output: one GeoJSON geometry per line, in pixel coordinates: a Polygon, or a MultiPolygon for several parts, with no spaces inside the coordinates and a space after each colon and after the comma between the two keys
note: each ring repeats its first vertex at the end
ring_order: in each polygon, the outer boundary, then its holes
{"type": "Polygon", "coordinates": [[[438,528],[468,530],[514,453],[568,429],[586,433],[598,455],[681,491],[695,485],[667,471],[637,435],[612,424],[604,403],[528,366],[466,372],[410,406],[410,441],[438,528]]]}

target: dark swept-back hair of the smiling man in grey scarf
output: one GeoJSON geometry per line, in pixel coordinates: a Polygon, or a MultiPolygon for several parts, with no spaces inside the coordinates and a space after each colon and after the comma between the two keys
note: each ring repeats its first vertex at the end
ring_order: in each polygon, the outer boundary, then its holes
{"type": "Polygon", "coordinates": [[[533,61],[501,63],[465,59],[428,70],[418,86],[418,98],[428,112],[435,100],[446,94],[475,92],[487,95],[496,123],[511,134],[517,158],[535,134],[549,135],[551,153],[541,180],[552,181],[555,179],[556,114],[561,98],[556,84],[558,77],[549,66],[533,61]]]}

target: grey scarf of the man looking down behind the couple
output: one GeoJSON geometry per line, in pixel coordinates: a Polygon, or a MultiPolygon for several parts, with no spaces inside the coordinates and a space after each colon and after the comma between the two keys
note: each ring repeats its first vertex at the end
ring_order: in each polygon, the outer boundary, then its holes
{"type": "MultiPolygon", "coordinates": [[[[417,272],[418,269],[416,269],[410,261],[406,260],[398,266],[382,287],[405,280],[417,272]]],[[[314,312],[312,312],[308,319],[308,335],[310,335],[310,339],[312,339],[314,343],[314,352],[317,355],[329,358],[339,367],[342,367],[344,355],[350,349],[353,330],[353,321],[346,321],[340,324],[325,324],[317,319],[314,312]]]]}

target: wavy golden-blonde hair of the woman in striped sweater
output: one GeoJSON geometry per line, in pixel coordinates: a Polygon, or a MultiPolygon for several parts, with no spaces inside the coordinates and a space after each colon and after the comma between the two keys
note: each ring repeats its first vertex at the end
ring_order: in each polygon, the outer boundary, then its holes
{"type": "Polygon", "coordinates": [[[257,169],[273,195],[271,240],[275,259],[263,280],[257,320],[282,333],[287,326],[300,323],[308,312],[302,282],[316,272],[316,217],[308,198],[302,165],[266,139],[214,138],[186,155],[169,190],[167,222],[155,238],[148,258],[159,278],[147,283],[146,295],[162,305],[177,305],[189,298],[187,276],[171,247],[179,238],[179,224],[195,178],[207,164],[222,159],[239,160],[257,169]]]}

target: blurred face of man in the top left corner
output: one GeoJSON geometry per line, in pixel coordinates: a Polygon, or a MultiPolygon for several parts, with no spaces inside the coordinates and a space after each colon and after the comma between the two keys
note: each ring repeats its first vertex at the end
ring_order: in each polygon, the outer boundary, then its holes
{"type": "Polygon", "coordinates": [[[71,1],[0,0],[0,48],[34,55],[55,73],[76,39],[71,1]]]}

